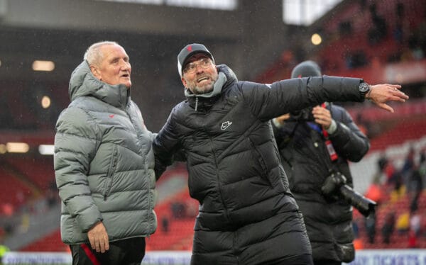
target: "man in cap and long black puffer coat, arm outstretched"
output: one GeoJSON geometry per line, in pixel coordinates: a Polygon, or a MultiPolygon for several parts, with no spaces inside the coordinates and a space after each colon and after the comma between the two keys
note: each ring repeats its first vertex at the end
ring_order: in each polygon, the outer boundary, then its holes
{"type": "Polygon", "coordinates": [[[157,177],[185,154],[192,198],[200,202],[191,264],[312,264],[302,215],[290,193],[270,120],[324,101],[366,95],[405,101],[398,85],[315,77],[271,85],[237,81],[204,45],[178,55],[187,100],[173,108],[153,142],[157,177]],[[181,153],[180,153],[181,154],[181,153]]]}

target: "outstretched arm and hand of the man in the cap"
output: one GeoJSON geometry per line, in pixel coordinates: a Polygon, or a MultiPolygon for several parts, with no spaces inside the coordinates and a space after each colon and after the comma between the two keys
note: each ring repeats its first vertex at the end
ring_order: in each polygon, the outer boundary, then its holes
{"type": "Polygon", "coordinates": [[[241,82],[241,91],[251,111],[258,118],[272,118],[315,106],[324,101],[363,102],[370,99],[379,108],[393,112],[386,103],[405,102],[408,96],[399,91],[400,85],[368,85],[369,92],[361,93],[363,79],[349,77],[302,77],[274,82],[271,85],[241,82]]]}

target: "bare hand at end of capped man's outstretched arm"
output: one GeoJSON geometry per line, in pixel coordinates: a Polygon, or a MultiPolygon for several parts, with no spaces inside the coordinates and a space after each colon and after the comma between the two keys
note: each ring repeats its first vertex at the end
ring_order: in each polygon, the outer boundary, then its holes
{"type": "Polygon", "coordinates": [[[366,94],[366,98],[375,103],[379,108],[393,113],[393,108],[386,104],[388,101],[405,102],[408,96],[400,91],[401,86],[398,84],[376,84],[370,86],[370,91],[366,94]]]}

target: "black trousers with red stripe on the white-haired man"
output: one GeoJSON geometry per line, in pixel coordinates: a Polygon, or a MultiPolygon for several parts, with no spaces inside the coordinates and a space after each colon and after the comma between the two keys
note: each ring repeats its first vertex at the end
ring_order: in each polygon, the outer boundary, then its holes
{"type": "Polygon", "coordinates": [[[141,265],[145,256],[145,237],[109,242],[109,250],[96,252],[90,244],[70,245],[72,265],[141,265]]]}

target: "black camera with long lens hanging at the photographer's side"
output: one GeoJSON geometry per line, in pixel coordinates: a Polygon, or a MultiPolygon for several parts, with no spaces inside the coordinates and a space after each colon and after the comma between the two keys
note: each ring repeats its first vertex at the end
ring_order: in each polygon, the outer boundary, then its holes
{"type": "Polygon", "coordinates": [[[346,185],[346,177],[340,172],[334,172],[327,176],[321,187],[321,191],[325,196],[334,200],[343,198],[347,203],[358,209],[365,217],[368,217],[376,210],[377,203],[362,196],[346,185]]]}

